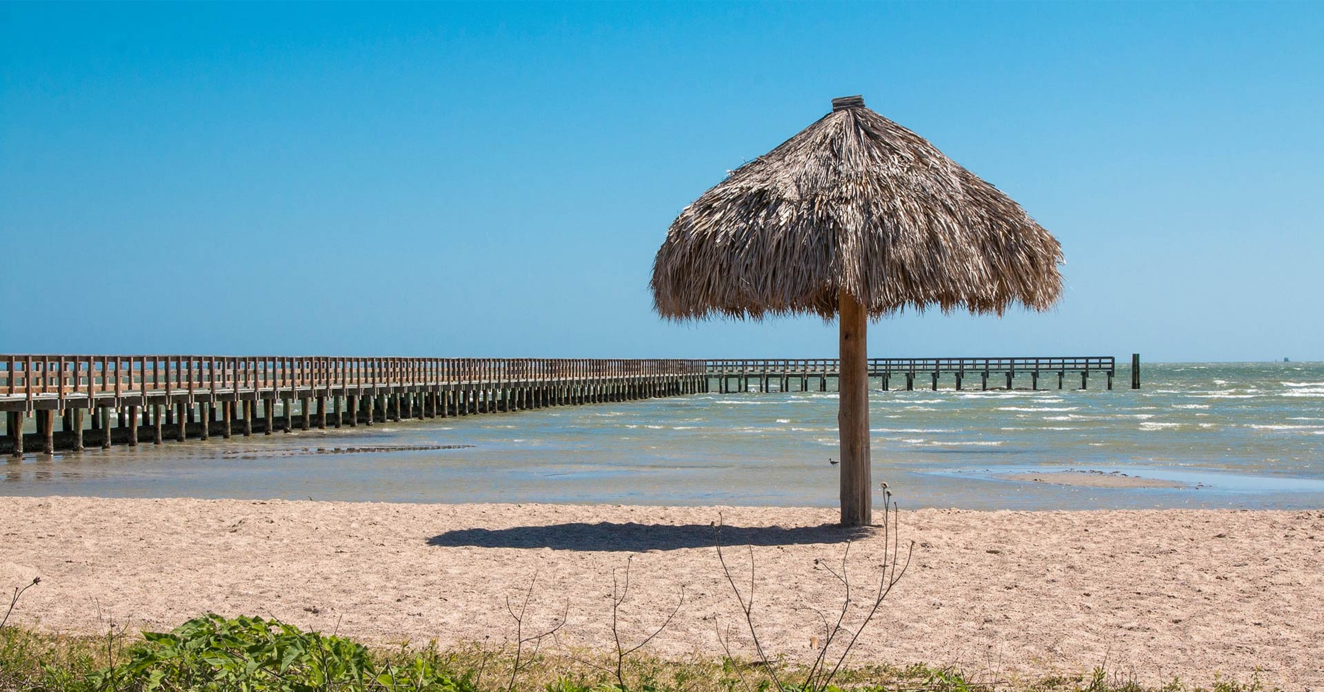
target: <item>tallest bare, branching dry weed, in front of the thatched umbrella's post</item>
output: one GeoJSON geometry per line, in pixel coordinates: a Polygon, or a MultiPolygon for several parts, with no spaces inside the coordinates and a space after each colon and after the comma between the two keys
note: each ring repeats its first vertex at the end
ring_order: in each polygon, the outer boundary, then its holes
{"type": "MultiPolygon", "coordinates": [[[[887,494],[888,499],[891,494],[887,494]]],[[[880,573],[878,578],[878,590],[873,593],[869,601],[863,602],[863,619],[859,626],[854,630],[843,627],[846,617],[850,614],[851,607],[855,605],[853,587],[850,582],[850,573],[847,572],[849,558],[850,558],[850,541],[846,541],[846,548],[841,556],[841,566],[833,568],[829,562],[824,560],[814,560],[816,566],[824,568],[833,578],[841,584],[843,589],[841,610],[835,614],[835,621],[830,619],[828,614],[821,610],[810,609],[818,614],[824,623],[824,636],[822,646],[818,648],[818,654],[814,656],[814,662],[809,666],[809,671],[805,673],[805,680],[801,684],[784,684],[777,676],[773,660],[768,656],[764,650],[763,642],[759,639],[757,627],[753,623],[753,606],[755,606],[755,577],[756,568],[753,560],[753,546],[749,546],[749,594],[745,598],[740,593],[740,587],[736,585],[735,576],[731,573],[730,565],[727,565],[726,554],[722,550],[722,520],[719,517],[718,523],[714,524],[715,545],[718,550],[718,561],[722,564],[722,572],[727,577],[727,584],[731,585],[731,591],[736,597],[736,602],[740,605],[740,611],[744,618],[745,628],[749,632],[749,638],[753,640],[755,654],[757,656],[759,667],[761,667],[767,673],[768,679],[772,681],[773,687],[779,691],[796,689],[801,692],[826,692],[829,685],[831,685],[833,679],[841,671],[841,667],[846,663],[850,656],[851,650],[859,640],[859,635],[865,631],[865,627],[878,615],[878,610],[883,606],[883,601],[891,593],[892,587],[906,576],[906,570],[910,569],[911,556],[915,552],[915,541],[911,541],[906,549],[904,561],[902,561],[900,554],[900,531],[899,531],[899,515],[896,509],[896,503],[883,504],[883,560],[879,566],[880,573]],[[833,643],[842,642],[842,636],[849,635],[845,643],[841,646],[839,652],[835,656],[829,658],[829,651],[833,643]]],[[[722,648],[726,651],[727,659],[732,659],[730,639],[731,628],[727,627],[726,636],[723,636],[722,626],[714,621],[714,626],[718,630],[718,640],[722,643],[722,648]]],[[[736,668],[736,673],[740,676],[740,683],[744,685],[747,692],[752,692],[753,688],[749,685],[748,680],[740,668],[736,668]]]]}

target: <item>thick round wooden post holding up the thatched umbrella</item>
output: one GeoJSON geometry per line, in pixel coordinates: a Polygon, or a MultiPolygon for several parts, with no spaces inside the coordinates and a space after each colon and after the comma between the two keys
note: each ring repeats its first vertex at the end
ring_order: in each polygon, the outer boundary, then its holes
{"type": "MultiPolygon", "coordinates": [[[[837,426],[841,430],[841,523],[873,523],[873,482],[869,462],[869,312],[853,295],[841,291],[841,370],[837,389],[837,426]]],[[[826,376],[824,377],[826,380],[826,376]]]]}

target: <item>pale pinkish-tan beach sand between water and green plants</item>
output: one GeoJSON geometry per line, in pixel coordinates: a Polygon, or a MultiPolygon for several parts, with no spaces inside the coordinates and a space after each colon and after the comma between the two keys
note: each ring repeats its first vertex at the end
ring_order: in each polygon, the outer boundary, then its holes
{"type": "MultiPolygon", "coordinates": [[[[40,576],[15,617],[48,630],[169,628],[211,610],[450,644],[508,636],[504,599],[536,573],[534,625],[568,603],[563,643],[605,648],[612,570],[633,556],[622,630],[659,623],[683,586],[654,651],[716,655],[715,622],[739,625],[719,512],[727,542],[755,544],[765,644],[810,655],[806,609],[839,603],[814,568],[842,554],[830,509],[0,497],[0,586],[40,576]]],[[[900,529],[914,564],[857,663],[1324,683],[1324,511],[920,509],[900,529]]],[[[727,554],[744,587],[748,549],[727,554]]],[[[851,544],[857,587],[880,554],[880,535],[851,544]]]]}

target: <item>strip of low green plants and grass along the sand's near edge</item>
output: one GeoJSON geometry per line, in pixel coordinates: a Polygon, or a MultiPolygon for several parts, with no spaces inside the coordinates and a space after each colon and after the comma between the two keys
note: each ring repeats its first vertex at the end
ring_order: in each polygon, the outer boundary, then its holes
{"type": "MultiPolygon", "coordinates": [[[[710,658],[534,654],[465,646],[368,647],[262,618],[204,615],[171,632],[98,636],[0,630],[5,692],[813,692],[809,667],[710,658]],[[773,683],[777,672],[780,687],[773,683]]],[[[1270,692],[1255,676],[1145,685],[1102,668],[1035,680],[967,676],[932,666],[846,667],[820,692],[1270,692]]]]}

